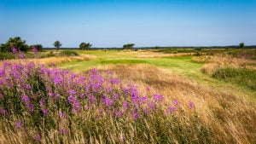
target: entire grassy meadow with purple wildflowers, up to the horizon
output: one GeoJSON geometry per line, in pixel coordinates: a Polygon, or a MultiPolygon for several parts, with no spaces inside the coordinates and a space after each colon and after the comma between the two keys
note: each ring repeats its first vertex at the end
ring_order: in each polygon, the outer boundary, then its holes
{"type": "Polygon", "coordinates": [[[28,55],[0,62],[2,143],[256,142],[255,49],[28,55]]]}

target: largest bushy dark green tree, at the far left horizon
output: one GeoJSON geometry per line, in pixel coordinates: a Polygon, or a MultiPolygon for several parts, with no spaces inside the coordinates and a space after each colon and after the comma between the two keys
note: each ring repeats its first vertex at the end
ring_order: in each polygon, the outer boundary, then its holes
{"type": "Polygon", "coordinates": [[[19,51],[27,51],[29,46],[26,44],[25,40],[22,40],[20,37],[10,37],[6,43],[1,44],[1,52],[10,52],[15,48],[19,51]]]}

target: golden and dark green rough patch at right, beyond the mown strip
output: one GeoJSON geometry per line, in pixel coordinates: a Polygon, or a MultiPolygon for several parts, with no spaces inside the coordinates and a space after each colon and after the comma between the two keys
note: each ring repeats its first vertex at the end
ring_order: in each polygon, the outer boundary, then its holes
{"type": "Polygon", "coordinates": [[[206,63],[201,67],[201,72],[212,78],[255,90],[256,60],[230,55],[205,55],[193,57],[191,61],[206,63]]]}

